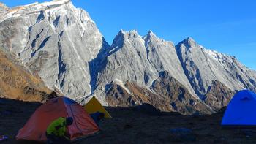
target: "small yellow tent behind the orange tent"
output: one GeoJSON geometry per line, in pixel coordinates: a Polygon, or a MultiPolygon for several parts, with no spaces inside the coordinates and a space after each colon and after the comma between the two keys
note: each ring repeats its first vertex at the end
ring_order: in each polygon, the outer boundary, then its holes
{"type": "Polygon", "coordinates": [[[93,97],[91,100],[83,106],[86,109],[86,112],[91,114],[95,112],[101,112],[105,114],[105,118],[112,118],[112,116],[108,113],[108,111],[102,107],[102,105],[99,103],[99,101],[93,97]]]}

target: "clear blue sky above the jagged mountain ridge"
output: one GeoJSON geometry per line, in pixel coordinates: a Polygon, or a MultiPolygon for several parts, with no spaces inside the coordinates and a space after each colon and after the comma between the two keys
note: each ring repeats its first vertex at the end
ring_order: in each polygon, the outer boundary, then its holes
{"type": "MultiPolygon", "coordinates": [[[[0,0],[9,7],[36,0],[0,0]]],[[[42,2],[44,0],[39,0],[42,2]]],[[[111,44],[120,29],[154,31],[177,44],[192,37],[256,70],[255,0],[72,0],[89,12],[111,44]]]]}

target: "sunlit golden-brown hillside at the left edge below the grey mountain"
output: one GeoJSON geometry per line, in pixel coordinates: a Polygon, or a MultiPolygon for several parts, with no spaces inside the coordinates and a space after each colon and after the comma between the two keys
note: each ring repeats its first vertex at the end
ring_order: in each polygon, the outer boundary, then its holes
{"type": "Polygon", "coordinates": [[[14,55],[0,50],[1,98],[42,102],[50,92],[39,76],[21,66],[14,55]]]}

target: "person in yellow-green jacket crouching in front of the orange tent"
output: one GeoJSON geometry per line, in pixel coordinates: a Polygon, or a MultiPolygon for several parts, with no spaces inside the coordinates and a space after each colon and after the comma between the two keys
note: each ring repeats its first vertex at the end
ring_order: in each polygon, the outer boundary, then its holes
{"type": "Polygon", "coordinates": [[[66,129],[73,123],[73,118],[58,118],[54,120],[46,130],[47,144],[70,143],[69,137],[67,137],[66,129]]]}

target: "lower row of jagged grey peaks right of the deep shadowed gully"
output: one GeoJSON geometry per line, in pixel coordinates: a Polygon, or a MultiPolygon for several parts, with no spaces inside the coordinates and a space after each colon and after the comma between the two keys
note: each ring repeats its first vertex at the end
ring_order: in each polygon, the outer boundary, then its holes
{"type": "Polygon", "coordinates": [[[94,94],[107,95],[102,102],[107,100],[108,105],[148,102],[184,115],[214,113],[228,104],[236,90],[255,91],[254,71],[190,37],[174,46],[152,31],[144,37],[137,31],[120,31],[107,53],[99,62],[104,68],[97,72],[94,94]],[[140,94],[127,83],[133,83],[140,94]]]}

